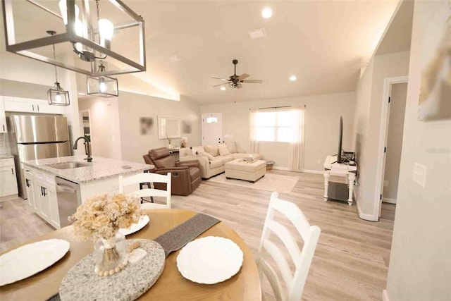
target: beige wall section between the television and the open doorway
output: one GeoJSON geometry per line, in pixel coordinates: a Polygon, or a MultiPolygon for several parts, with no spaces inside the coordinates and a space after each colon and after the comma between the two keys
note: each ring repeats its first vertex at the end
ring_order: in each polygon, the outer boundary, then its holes
{"type": "Polygon", "coordinates": [[[373,56],[357,83],[357,113],[354,119],[354,148],[359,164],[357,206],[362,219],[378,219],[374,203],[385,78],[407,75],[409,51],[373,56]]]}

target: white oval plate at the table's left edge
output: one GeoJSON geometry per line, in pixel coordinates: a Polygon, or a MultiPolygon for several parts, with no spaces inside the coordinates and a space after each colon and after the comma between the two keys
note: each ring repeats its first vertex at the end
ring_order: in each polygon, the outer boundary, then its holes
{"type": "Polygon", "coordinates": [[[0,286],[13,283],[47,269],[69,250],[66,240],[41,240],[23,245],[0,256],[0,286]]]}

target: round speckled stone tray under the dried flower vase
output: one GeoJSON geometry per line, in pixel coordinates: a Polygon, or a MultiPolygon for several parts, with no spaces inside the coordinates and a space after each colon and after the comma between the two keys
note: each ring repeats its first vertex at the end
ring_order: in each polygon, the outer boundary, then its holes
{"type": "MultiPolygon", "coordinates": [[[[156,283],[163,273],[165,254],[163,247],[153,240],[141,242],[147,255],[130,264],[118,274],[100,277],[94,274],[94,253],[75,264],[63,278],[59,288],[62,301],[72,300],[135,300],[156,283]]],[[[135,240],[126,240],[130,245],[135,240]]]]}

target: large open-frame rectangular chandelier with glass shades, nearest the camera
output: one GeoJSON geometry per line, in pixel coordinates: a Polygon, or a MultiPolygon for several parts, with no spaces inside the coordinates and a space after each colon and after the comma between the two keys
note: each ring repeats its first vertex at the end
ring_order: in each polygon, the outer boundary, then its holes
{"type": "MultiPolygon", "coordinates": [[[[58,8],[61,11],[61,15],[56,13],[51,8],[44,6],[49,5],[35,0],[14,1],[14,0],[1,0],[3,6],[4,15],[4,27],[6,35],[6,50],[14,54],[20,54],[27,56],[31,59],[43,61],[54,66],[73,70],[78,73],[82,73],[89,76],[108,76],[124,73],[133,73],[146,70],[145,59],[145,35],[144,35],[144,19],[137,13],[132,11],[121,0],[109,0],[101,1],[102,3],[110,3],[111,9],[116,10],[112,15],[121,15],[121,23],[113,23],[111,20],[103,18],[95,18],[96,13],[92,13],[91,4],[94,4],[92,0],[61,0],[58,3],[58,8]],[[23,3],[32,4],[33,7],[42,9],[49,16],[49,20],[58,20],[63,23],[65,32],[58,35],[52,35],[50,37],[37,37],[34,39],[26,40],[24,42],[16,41],[16,32],[18,32],[15,25],[20,25],[20,18],[14,14],[14,6],[23,6],[23,3]],[[16,18],[15,18],[16,17],[16,18]],[[56,18],[55,18],[56,17],[56,18]],[[125,20],[126,19],[126,20],[125,20]],[[113,43],[113,35],[119,30],[128,32],[137,32],[137,61],[131,59],[131,56],[124,56],[111,49],[113,43]],[[70,43],[73,45],[72,49],[78,54],[81,61],[86,63],[68,63],[61,59],[55,59],[51,57],[39,54],[41,47],[49,47],[58,43],[70,43]],[[99,72],[97,63],[99,60],[106,58],[111,59],[111,66],[114,64],[114,68],[99,72]],[[117,63],[116,63],[117,61],[117,63]],[[117,66],[116,66],[117,65],[117,66]]],[[[98,13],[99,1],[96,1],[96,11],[98,13]]],[[[18,10],[19,8],[15,9],[18,10]]],[[[30,15],[32,18],[33,14],[30,15]]],[[[98,14],[97,14],[98,16],[98,14]]],[[[56,23],[57,27],[58,24],[56,23]]],[[[61,26],[60,26],[61,27],[61,26]]],[[[135,35],[130,35],[135,37],[135,35]]]]}

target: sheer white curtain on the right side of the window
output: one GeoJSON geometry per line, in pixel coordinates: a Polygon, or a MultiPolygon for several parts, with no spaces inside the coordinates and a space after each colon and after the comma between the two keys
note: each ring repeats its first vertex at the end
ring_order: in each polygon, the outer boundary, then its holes
{"type": "Polygon", "coordinates": [[[292,109],[295,140],[290,142],[289,163],[291,171],[302,171],[304,168],[304,110],[292,109]]]}

